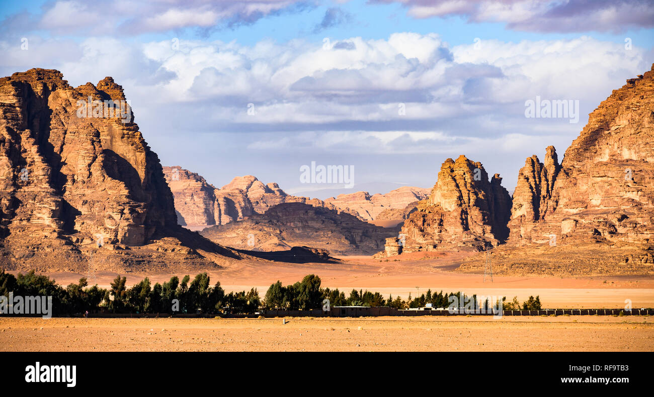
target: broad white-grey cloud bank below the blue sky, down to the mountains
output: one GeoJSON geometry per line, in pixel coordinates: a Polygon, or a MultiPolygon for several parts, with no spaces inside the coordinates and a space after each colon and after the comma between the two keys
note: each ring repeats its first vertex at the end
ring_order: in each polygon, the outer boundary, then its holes
{"type": "Polygon", "coordinates": [[[426,186],[445,158],[462,153],[511,176],[510,185],[526,156],[549,144],[562,152],[612,89],[651,67],[651,50],[591,37],[449,46],[433,33],[394,33],[339,42],[90,37],[30,40],[29,50],[0,40],[0,50],[3,75],[39,65],[73,86],[113,76],[164,163],[218,185],[244,173],[266,179],[258,170],[269,161],[292,174],[298,161],[323,159],[356,164],[360,178],[410,163],[426,186]],[[536,96],[579,100],[579,123],[525,118],[536,96]],[[229,166],[203,165],[199,153],[229,166]],[[379,155],[388,165],[375,168],[379,155]]]}

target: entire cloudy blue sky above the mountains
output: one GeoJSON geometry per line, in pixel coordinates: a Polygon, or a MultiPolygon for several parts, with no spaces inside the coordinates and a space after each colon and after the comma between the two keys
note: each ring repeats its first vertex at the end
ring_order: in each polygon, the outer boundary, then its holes
{"type": "Polygon", "coordinates": [[[0,76],[112,76],[162,165],[323,199],[432,187],[462,154],[513,191],[526,157],[562,159],[654,62],[651,0],[99,4],[1,0],[0,76]],[[526,111],[561,101],[568,114],[526,111]],[[307,182],[312,163],[351,181],[307,182]]]}

